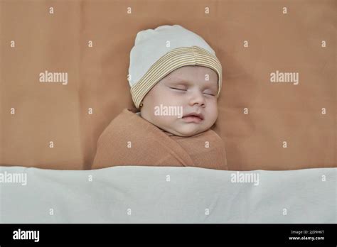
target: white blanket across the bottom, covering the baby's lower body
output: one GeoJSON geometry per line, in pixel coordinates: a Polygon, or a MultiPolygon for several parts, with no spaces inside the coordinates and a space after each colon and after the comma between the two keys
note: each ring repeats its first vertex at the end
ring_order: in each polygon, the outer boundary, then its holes
{"type": "Polygon", "coordinates": [[[0,167],[0,223],[336,223],[336,174],[0,167]]]}

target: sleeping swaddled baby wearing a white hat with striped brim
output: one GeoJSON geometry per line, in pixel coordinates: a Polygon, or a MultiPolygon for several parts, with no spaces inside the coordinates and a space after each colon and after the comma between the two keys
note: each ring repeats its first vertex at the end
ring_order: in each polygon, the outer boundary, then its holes
{"type": "Polygon", "coordinates": [[[137,111],[124,109],[97,142],[92,169],[117,165],[228,170],[218,118],[222,67],[199,35],[182,26],[137,33],[129,85],[137,111]]]}

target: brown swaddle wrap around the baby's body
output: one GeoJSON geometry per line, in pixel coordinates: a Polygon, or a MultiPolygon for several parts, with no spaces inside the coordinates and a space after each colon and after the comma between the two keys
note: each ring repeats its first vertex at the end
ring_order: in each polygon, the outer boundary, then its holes
{"type": "Polygon", "coordinates": [[[128,109],[98,139],[92,169],[116,165],[228,170],[224,143],[213,130],[191,137],[174,136],[128,109]]]}

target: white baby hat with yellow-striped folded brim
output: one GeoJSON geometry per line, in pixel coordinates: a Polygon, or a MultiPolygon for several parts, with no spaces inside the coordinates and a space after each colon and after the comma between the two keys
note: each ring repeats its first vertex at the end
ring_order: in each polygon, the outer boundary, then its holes
{"type": "Polygon", "coordinates": [[[179,25],[137,33],[129,65],[129,85],[135,106],[139,108],[146,94],[166,75],[188,65],[209,67],[218,74],[218,97],[222,67],[203,38],[179,25]]]}

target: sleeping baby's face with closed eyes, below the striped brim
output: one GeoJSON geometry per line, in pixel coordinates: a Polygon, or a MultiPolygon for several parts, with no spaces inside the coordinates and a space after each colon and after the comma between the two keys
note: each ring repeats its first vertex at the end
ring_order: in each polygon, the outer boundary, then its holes
{"type": "Polygon", "coordinates": [[[207,131],[218,118],[217,93],[218,75],[214,70],[181,67],[146,94],[141,117],[176,136],[194,136],[207,131]]]}

